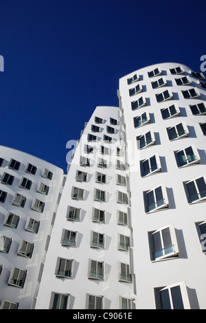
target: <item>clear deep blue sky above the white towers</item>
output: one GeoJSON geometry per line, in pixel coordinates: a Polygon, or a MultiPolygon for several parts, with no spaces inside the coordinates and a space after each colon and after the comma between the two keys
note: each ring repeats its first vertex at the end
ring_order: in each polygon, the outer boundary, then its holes
{"type": "Polygon", "coordinates": [[[205,0],[1,0],[1,141],[66,171],[67,141],[119,78],[156,63],[200,71],[205,0]]]}

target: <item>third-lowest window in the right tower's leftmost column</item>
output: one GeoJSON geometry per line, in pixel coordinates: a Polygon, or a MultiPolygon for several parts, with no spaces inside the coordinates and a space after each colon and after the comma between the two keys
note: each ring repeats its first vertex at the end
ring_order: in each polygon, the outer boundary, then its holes
{"type": "Polygon", "coordinates": [[[163,185],[144,192],[144,200],[146,213],[155,212],[169,206],[166,188],[163,185]]]}

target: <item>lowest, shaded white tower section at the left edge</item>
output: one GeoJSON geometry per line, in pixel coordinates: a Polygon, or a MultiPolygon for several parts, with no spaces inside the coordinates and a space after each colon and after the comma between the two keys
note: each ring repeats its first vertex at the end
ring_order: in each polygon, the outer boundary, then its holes
{"type": "Polygon", "coordinates": [[[0,309],[32,309],[63,184],[62,169],[0,146],[0,309]]]}

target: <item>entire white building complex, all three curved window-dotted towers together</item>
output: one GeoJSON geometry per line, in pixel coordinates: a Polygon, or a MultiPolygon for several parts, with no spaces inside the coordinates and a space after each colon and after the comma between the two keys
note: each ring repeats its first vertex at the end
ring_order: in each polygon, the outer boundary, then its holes
{"type": "Polygon", "coordinates": [[[206,309],[205,88],[179,63],[120,78],[67,177],[1,147],[1,308],[206,309]]]}

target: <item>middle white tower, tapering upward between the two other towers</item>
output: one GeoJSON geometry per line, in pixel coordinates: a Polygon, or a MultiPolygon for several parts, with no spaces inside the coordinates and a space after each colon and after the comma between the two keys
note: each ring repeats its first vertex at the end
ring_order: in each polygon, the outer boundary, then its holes
{"type": "Polygon", "coordinates": [[[128,168],[119,131],[119,108],[97,107],[78,144],[71,140],[76,149],[36,309],[134,306],[128,168]]]}

